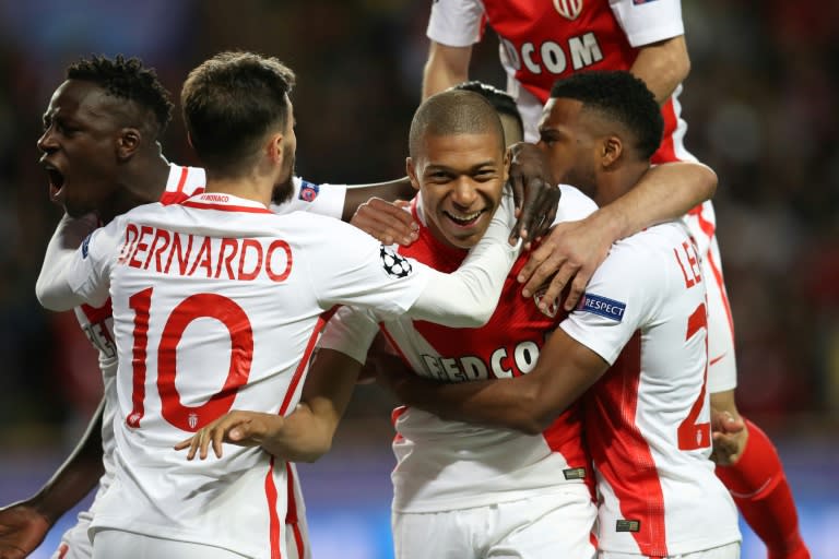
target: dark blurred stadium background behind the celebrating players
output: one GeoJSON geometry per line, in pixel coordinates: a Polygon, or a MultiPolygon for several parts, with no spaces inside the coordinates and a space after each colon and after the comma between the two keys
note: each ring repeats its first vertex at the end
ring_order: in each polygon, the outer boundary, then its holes
{"type": "MultiPolygon", "coordinates": [[[[138,56],[177,98],[222,49],[274,55],[298,76],[298,174],[373,182],[404,173],[430,2],[0,0],[0,506],[35,491],[101,396],[71,313],[43,311],[35,278],[60,209],[36,165],[40,117],[64,67],[138,56]]],[[[720,177],[718,235],[737,334],[738,403],[779,447],[814,558],[839,536],[839,3],[684,0],[693,61],[687,147],[720,177]]],[[[497,39],[472,75],[504,87],[497,39]]],[[[164,151],[196,164],[176,118],[164,151]]],[[[389,411],[361,386],[335,449],[302,467],[315,556],[391,557],[389,411]]],[[[62,520],[43,546],[55,549],[62,520]]],[[[744,527],[744,558],[765,557],[744,527]]]]}

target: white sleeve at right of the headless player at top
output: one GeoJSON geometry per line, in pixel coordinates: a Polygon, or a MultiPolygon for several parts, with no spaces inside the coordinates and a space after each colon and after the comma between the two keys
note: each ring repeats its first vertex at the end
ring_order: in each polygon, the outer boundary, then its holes
{"type": "Polygon", "coordinates": [[[685,34],[680,0],[610,0],[608,3],[633,47],[685,34]]]}

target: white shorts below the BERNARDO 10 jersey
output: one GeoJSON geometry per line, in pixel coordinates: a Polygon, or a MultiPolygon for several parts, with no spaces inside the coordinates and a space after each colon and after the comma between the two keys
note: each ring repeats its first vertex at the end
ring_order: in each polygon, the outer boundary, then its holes
{"type": "Polygon", "coordinates": [[[94,559],[243,559],[244,555],[221,547],[144,536],[121,530],[99,528],[93,539],[94,559]]]}

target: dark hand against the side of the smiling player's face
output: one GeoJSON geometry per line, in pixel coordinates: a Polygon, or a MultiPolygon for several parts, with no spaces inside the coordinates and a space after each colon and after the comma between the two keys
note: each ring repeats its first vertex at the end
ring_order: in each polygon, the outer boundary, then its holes
{"type": "Polygon", "coordinates": [[[510,233],[510,245],[519,237],[530,248],[551,227],[559,203],[559,186],[551,176],[551,167],[542,151],[533,144],[519,142],[510,146],[510,178],[516,202],[516,226],[510,233]]]}

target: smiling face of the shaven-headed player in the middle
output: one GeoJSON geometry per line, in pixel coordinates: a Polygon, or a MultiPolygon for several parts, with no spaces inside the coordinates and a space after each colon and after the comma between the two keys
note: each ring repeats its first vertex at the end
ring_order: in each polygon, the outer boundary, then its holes
{"type": "Polygon", "coordinates": [[[495,132],[426,133],[407,158],[407,174],[432,234],[452,247],[473,247],[501,201],[508,164],[495,132]]]}

